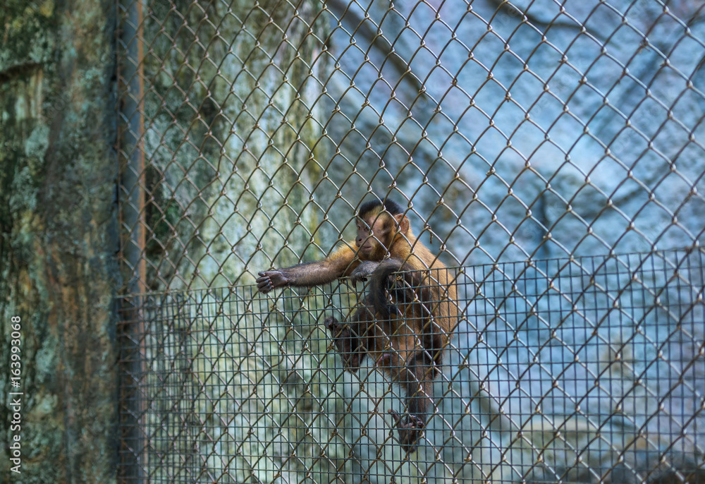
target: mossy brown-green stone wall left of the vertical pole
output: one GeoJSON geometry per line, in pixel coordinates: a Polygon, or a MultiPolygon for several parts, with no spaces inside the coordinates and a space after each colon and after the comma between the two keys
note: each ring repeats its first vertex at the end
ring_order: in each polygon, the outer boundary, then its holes
{"type": "MultiPolygon", "coordinates": [[[[0,476],[116,476],[114,3],[9,1],[0,25],[0,476]],[[21,318],[21,431],[9,426],[21,318]],[[21,473],[8,440],[20,435],[21,473]]],[[[3,482],[7,482],[3,480],[3,482]]]]}

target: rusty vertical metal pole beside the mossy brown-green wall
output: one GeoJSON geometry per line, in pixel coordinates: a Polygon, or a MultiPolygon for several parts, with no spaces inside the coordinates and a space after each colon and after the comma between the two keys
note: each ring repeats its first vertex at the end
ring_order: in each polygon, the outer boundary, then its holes
{"type": "Polygon", "coordinates": [[[145,318],[142,308],[146,289],[145,271],[145,151],[144,151],[144,50],[142,46],[142,0],[118,0],[121,39],[118,62],[121,122],[121,229],[123,264],[128,268],[123,299],[121,338],[121,476],[123,483],[145,480],[145,398],[140,382],[145,365],[145,318]]]}

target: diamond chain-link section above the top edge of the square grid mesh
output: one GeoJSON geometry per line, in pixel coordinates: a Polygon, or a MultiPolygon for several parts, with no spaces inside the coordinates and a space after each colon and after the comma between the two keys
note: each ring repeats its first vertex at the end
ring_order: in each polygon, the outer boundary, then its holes
{"type": "Polygon", "coordinates": [[[121,154],[145,157],[121,186],[140,214],[121,253],[144,229],[125,262],[147,289],[321,257],[369,191],[408,205],[450,265],[701,241],[699,2],[120,11],[136,32],[118,42],[121,154]]]}

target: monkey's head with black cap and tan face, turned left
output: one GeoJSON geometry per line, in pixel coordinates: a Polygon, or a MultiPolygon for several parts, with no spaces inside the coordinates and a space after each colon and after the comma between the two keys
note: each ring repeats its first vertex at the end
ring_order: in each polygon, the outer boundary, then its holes
{"type": "Polygon", "coordinates": [[[392,200],[364,202],[356,224],[355,245],[362,260],[382,260],[397,237],[412,237],[404,209],[392,200]]]}

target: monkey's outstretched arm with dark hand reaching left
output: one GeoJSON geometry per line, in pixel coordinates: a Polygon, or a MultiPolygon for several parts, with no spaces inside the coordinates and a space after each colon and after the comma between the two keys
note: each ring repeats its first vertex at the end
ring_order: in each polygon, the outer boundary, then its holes
{"type": "Polygon", "coordinates": [[[333,282],[350,274],[360,262],[355,260],[353,243],[346,243],[319,262],[293,265],[285,269],[259,272],[257,289],[268,293],[282,286],[311,287],[333,282]]]}

